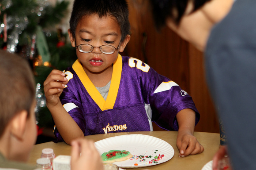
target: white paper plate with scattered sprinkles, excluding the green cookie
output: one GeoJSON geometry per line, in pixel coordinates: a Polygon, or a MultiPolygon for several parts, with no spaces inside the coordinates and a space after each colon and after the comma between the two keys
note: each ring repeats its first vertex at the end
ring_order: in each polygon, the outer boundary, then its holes
{"type": "Polygon", "coordinates": [[[126,150],[131,152],[131,154],[134,156],[133,158],[113,163],[123,168],[137,168],[157,165],[159,163],[168,161],[174,155],[174,149],[171,145],[169,145],[169,143],[157,137],[143,134],[128,134],[109,137],[101,141],[97,141],[94,144],[100,155],[102,155],[104,152],[109,152],[109,150],[126,150]],[[150,161],[154,159],[154,156],[159,155],[160,159],[158,159],[157,162],[154,163],[153,161],[150,163],[150,161]],[[139,159],[139,156],[144,156],[145,160],[139,159]],[[145,158],[145,156],[151,156],[151,158],[145,158]]]}

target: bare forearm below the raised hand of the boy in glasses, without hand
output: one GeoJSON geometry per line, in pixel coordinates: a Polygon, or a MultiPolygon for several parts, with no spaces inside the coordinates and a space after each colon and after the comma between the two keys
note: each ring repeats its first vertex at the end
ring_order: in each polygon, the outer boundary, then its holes
{"type": "Polygon", "coordinates": [[[53,116],[56,128],[67,144],[70,145],[75,138],[84,137],[83,131],[60,102],[55,106],[47,105],[47,107],[53,116]]]}

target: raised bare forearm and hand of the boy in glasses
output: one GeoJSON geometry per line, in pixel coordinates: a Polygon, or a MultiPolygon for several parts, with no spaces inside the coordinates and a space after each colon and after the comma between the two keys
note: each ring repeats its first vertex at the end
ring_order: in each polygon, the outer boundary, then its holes
{"type": "Polygon", "coordinates": [[[77,137],[84,137],[83,131],[68,114],[60,102],[60,94],[68,83],[66,75],[53,70],[44,82],[46,105],[53,116],[54,123],[63,140],[70,144],[77,137]]]}

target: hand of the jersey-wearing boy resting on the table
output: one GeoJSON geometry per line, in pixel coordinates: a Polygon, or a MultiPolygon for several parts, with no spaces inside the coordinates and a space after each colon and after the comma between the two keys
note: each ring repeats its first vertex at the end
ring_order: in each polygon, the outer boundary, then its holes
{"type": "Polygon", "coordinates": [[[203,146],[197,141],[196,137],[187,132],[178,132],[176,145],[180,151],[180,157],[196,155],[204,151],[203,146]]]}

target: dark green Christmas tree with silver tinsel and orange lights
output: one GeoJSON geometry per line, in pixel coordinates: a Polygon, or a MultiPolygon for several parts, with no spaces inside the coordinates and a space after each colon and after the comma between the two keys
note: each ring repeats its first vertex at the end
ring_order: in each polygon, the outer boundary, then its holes
{"type": "Polygon", "coordinates": [[[45,107],[43,82],[52,69],[64,70],[75,61],[75,49],[66,43],[67,33],[60,29],[69,2],[58,0],[0,1],[0,48],[26,58],[37,83],[36,99],[39,127],[53,127],[45,107]]]}

